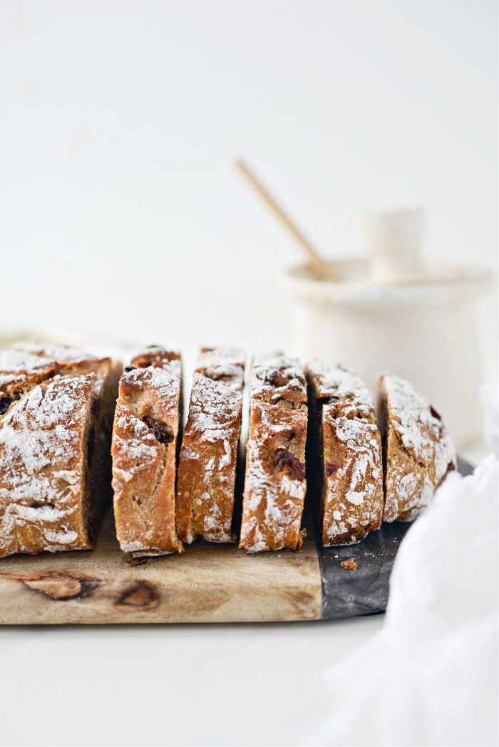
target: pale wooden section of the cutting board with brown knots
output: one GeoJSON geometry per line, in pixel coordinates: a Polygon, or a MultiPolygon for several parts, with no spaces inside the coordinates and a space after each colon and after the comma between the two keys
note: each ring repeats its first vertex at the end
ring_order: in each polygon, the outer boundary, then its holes
{"type": "Polygon", "coordinates": [[[181,556],[132,565],[108,515],[93,551],[0,563],[0,624],[313,620],[321,604],[313,539],[301,553],[251,557],[199,542],[181,556]]]}

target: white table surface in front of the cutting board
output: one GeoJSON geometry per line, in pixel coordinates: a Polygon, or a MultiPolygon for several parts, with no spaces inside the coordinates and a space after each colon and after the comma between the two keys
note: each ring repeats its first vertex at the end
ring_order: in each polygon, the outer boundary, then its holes
{"type": "Polygon", "coordinates": [[[325,668],[382,620],[4,627],[0,743],[313,743],[325,668]]]}

